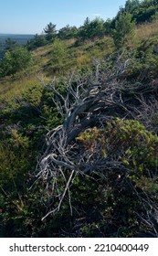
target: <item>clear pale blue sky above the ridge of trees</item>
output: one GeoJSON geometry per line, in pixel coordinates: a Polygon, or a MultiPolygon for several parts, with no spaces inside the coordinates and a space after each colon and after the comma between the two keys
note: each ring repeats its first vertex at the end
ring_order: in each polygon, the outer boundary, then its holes
{"type": "Polygon", "coordinates": [[[87,16],[116,16],[126,0],[0,0],[0,34],[41,34],[49,22],[57,28],[81,26],[87,16]]]}

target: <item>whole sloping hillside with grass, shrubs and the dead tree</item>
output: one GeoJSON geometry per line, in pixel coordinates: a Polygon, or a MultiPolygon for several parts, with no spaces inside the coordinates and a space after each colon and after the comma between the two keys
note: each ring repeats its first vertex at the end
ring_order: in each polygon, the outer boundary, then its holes
{"type": "Polygon", "coordinates": [[[158,20],[136,10],[6,51],[1,237],[158,237],[158,20]]]}

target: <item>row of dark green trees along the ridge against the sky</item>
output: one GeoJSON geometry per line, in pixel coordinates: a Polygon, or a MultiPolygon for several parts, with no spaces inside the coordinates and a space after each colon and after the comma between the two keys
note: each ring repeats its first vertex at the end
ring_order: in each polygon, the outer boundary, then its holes
{"type": "MultiPolygon", "coordinates": [[[[59,39],[77,38],[79,42],[96,37],[111,36],[115,41],[115,33],[121,30],[120,37],[128,34],[133,25],[151,22],[158,17],[158,0],[127,0],[124,7],[120,7],[118,14],[112,19],[104,21],[100,17],[90,20],[87,17],[82,26],[62,27],[57,30],[51,22],[44,28],[44,35],[36,35],[29,43],[29,48],[38,47],[51,42],[55,37],[59,39]],[[125,28],[124,28],[125,27],[125,28]],[[116,30],[116,32],[115,32],[116,30]]],[[[122,43],[122,42],[121,42],[122,43]]],[[[121,44],[120,44],[121,45],[121,44]]]]}

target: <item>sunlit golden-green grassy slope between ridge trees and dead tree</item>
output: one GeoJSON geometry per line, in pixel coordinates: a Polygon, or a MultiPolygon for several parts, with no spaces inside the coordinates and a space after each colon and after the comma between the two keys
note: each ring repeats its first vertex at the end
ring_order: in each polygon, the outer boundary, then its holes
{"type": "Polygon", "coordinates": [[[0,99],[9,100],[20,95],[21,92],[26,91],[39,84],[40,80],[52,80],[53,77],[66,74],[68,71],[74,69],[84,69],[89,65],[92,59],[98,59],[103,55],[110,54],[113,50],[113,42],[111,37],[104,37],[101,40],[96,39],[93,42],[87,42],[85,45],[75,47],[75,40],[65,40],[54,42],[51,45],[37,48],[32,52],[33,64],[30,68],[16,73],[14,77],[7,77],[0,80],[0,99]],[[54,53],[54,45],[57,53],[54,53]],[[60,48],[64,48],[62,56],[57,56],[60,48]],[[7,90],[7,88],[9,89],[7,90]],[[12,90],[13,89],[13,90],[12,90]]]}

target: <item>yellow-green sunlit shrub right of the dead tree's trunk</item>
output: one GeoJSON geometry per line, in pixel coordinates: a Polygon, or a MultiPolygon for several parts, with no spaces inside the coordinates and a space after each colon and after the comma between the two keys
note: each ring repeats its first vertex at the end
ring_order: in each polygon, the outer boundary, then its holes
{"type": "Polygon", "coordinates": [[[107,123],[105,129],[96,127],[81,133],[78,140],[91,153],[100,151],[105,158],[125,165],[126,176],[136,187],[156,191],[156,169],[158,165],[158,137],[145,130],[136,121],[116,119],[107,123]]]}

